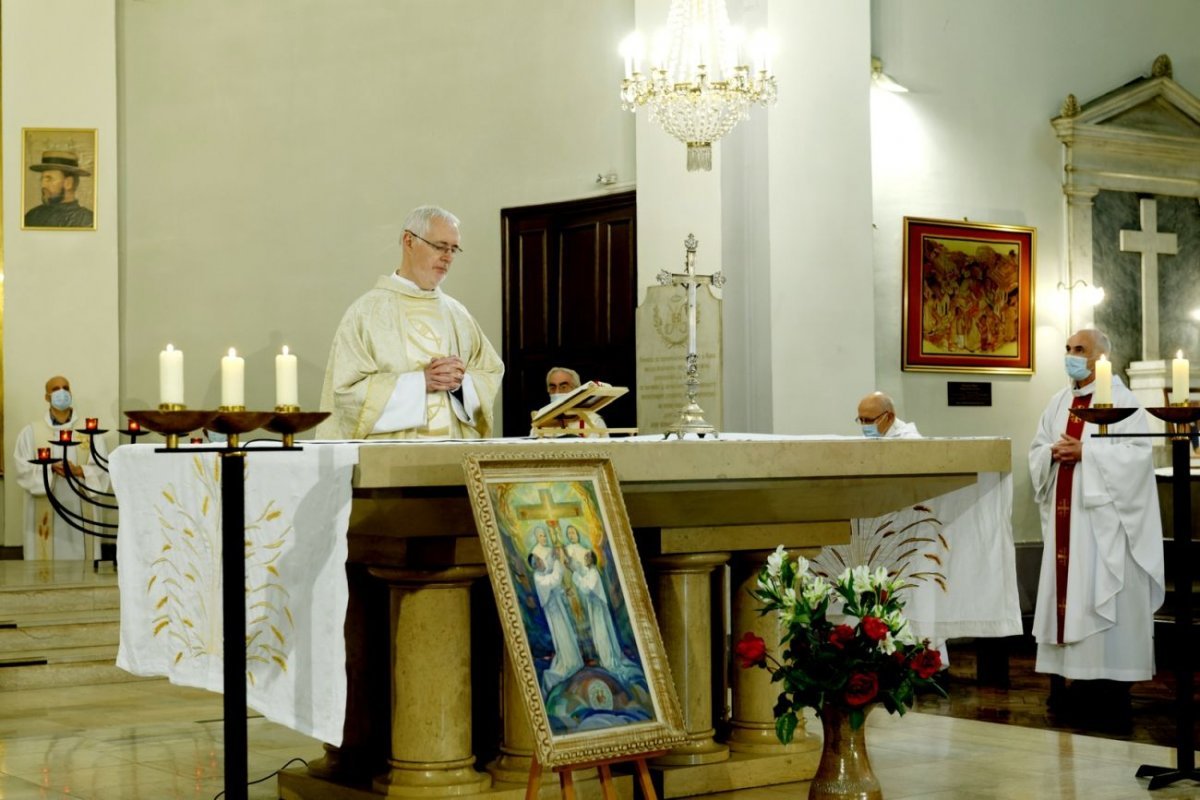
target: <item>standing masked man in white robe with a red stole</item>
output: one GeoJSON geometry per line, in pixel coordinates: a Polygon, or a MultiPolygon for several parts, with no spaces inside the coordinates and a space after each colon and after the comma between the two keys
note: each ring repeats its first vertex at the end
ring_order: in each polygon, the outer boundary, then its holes
{"type": "MultiPolygon", "coordinates": [[[[1130,684],[1154,675],[1163,528],[1152,440],[1094,438],[1098,428],[1070,413],[1091,407],[1096,360],[1110,351],[1098,330],[1067,339],[1069,385],[1050,399],[1030,446],[1044,542],[1033,634],[1036,669],[1051,675],[1051,710],[1122,730],[1132,724],[1130,684]]],[[[1138,408],[1116,375],[1112,405],[1138,408]]],[[[1110,434],[1146,432],[1140,408],[1109,425],[1110,434]]]]}

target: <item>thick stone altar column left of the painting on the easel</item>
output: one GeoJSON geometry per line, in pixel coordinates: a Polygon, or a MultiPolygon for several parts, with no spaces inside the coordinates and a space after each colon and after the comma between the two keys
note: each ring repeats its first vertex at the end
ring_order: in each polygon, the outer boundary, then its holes
{"type": "Polygon", "coordinates": [[[482,566],[373,567],[391,595],[388,796],[478,794],[491,786],[470,750],[470,585],[482,566]]]}

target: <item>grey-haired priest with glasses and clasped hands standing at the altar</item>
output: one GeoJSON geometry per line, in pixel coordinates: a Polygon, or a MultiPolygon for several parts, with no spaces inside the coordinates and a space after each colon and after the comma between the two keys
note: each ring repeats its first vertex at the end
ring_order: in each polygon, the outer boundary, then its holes
{"type": "Polygon", "coordinates": [[[438,287],[458,219],[420,206],[404,219],[401,264],[342,318],[325,368],[324,439],[479,439],[493,435],[504,365],[467,308],[438,287]]]}

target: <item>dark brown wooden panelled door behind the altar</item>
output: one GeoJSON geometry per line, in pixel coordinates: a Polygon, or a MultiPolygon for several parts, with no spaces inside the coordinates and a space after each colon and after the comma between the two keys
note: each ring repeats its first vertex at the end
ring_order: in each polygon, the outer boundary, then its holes
{"type": "Polygon", "coordinates": [[[551,367],[629,386],[602,416],[610,427],[636,426],[636,192],[505,209],[500,218],[503,434],[529,432],[529,411],[550,399],[551,367]]]}

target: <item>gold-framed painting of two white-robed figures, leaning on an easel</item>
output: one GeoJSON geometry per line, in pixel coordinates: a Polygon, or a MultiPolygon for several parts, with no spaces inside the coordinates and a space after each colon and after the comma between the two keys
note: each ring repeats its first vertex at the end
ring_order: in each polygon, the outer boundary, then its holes
{"type": "Polygon", "coordinates": [[[684,740],[632,529],[606,458],[464,461],[509,668],[553,769],[684,740]]]}

